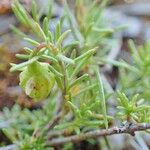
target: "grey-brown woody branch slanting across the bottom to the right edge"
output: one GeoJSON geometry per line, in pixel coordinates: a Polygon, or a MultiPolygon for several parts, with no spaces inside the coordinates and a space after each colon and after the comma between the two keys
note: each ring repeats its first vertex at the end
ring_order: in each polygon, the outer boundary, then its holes
{"type": "Polygon", "coordinates": [[[96,137],[100,137],[100,136],[108,136],[108,135],[113,135],[113,134],[127,133],[127,134],[134,136],[136,131],[143,131],[146,129],[150,129],[150,123],[131,124],[131,125],[123,126],[120,128],[113,127],[108,130],[106,130],[106,129],[96,130],[96,131],[90,131],[87,133],[82,133],[79,135],[65,137],[65,138],[58,138],[58,139],[55,138],[55,139],[52,139],[51,141],[47,141],[46,145],[47,146],[57,146],[57,145],[62,145],[62,144],[68,143],[68,142],[75,143],[75,142],[83,141],[83,140],[90,139],[90,138],[96,138],[96,137]]]}

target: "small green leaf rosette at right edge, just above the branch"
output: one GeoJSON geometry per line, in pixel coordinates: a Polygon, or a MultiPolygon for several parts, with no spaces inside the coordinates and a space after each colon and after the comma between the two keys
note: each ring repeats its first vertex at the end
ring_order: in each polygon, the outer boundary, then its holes
{"type": "Polygon", "coordinates": [[[149,122],[150,106],[144,104],[144,100],[139,98],[139,95],[133,96],[129,100],[124,93],[118,95],[118,112],[117,116],[126,119],[129,122],[149,122]]]}

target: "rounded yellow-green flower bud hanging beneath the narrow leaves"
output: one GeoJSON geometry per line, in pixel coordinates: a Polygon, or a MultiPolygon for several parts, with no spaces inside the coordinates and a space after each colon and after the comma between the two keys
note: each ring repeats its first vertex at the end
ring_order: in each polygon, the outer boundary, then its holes
{"type": "Polygon", "coordinates": [[[36,61],[28,65],[20,74],[21,88],[34,100],[46,98],[54,86],[55,79],[48,65],[36,61]]]}

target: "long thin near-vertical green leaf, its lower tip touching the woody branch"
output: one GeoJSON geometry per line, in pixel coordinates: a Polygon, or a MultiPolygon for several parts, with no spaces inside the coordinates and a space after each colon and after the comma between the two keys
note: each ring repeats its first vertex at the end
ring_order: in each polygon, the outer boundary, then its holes
{"type": "Polygon", "coordinates": [[[104,124],[105,124],[106,129],[108,129],[108,120],[107,120],[107,111],[106,111],[104,88],[103,88],[103,83],[102,83],[102,79],[101,79],[100,71],[99,71],[98,67],[96,68],[96,76],[97,76],[98,87],[99,87],[99,97],[100,97],[101,104],[102,104],[102,113],[103,113],[103,116],[104,116],[104,124]]]}

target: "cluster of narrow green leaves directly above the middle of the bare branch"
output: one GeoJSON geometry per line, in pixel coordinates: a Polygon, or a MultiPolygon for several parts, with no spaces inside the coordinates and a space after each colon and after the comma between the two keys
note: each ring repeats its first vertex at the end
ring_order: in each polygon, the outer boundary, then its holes
{"type": "MultiPolygon", "coordinates": [[[[100,114],[99,111],[101,107],[100,100],[83,103],[80,107],[77,107],[72,102],[67,102],[67,106],[74,114],[74,119],[69,123],[64,120],[61,124],[55,126],[55,130],[67,128],[68,131],[75,131],[79,134],[81,131],[85,132],[92,128],[103,128],[105,126],[105,116],[100,114]],[[81,127],[84,127],[84,129],[81,129],[81,127]]],[[[106,116],[106,119],[111,122],[113,117],[106,116]]]]}

